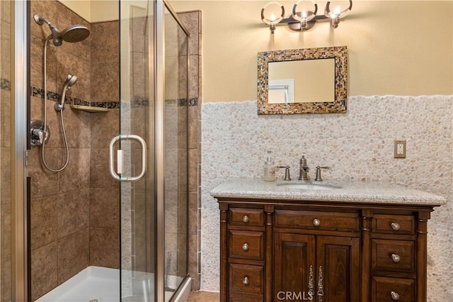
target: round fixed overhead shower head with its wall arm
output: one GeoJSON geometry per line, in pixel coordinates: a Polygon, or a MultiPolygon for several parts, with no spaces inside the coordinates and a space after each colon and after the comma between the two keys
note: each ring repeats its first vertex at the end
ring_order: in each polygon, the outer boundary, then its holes
{"type": "Polygon", "coordinates": [[[40,26],[42,26],[42,24],[44,23],[49,26],[52,33],[47,37],[47,40],[53,39],[52,42],[55,46],[62,45],[63,41],[69,43],[80,42],[81,40],[88,38],[88,35],[90,35],[90,30],[80,24],[68,26],[67,28],[64,28],[64,30],[59,31],[57,26],[54,26],[47,19],[42,18],[41,16],[36,14],[35,16],[33,16],[33,18],[35,19],[35,22],[40,26]]]}

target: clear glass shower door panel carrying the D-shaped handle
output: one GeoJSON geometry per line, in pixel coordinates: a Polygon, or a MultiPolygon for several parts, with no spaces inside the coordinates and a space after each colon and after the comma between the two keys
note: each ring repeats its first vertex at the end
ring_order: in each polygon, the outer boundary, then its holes
{"type": "Polygon", "coordinates": [[[122,150],[116,157],[122,163],[117,167],[122,171],[116,170],[122,301],[155,301],[153,35],[153,1],[120,1],[120,135],[111,146],[122,150]],[[130,140],[130,135],[137,136],[130,140]],[[139,179],[127,179],[135,176],[139,179]]]}

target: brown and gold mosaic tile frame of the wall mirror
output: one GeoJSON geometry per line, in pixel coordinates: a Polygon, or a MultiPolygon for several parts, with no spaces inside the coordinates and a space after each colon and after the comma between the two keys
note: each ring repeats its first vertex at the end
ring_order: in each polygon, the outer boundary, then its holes
{"type": "MultiPolygon", "coordinates": [[[[303,70],[300,70],[303,73],[303,70]]],[[[310,77],[310,74],[304,75],[310,77]]],[[[294,85],[297,85],[297,80],[294,85]]],[[[345,113],[348,99],[348,49],[346,46],[258,52],[258,114],[345,113]],[[334,59],[333,101],[270,103],[269,63],[334,59]]]]}

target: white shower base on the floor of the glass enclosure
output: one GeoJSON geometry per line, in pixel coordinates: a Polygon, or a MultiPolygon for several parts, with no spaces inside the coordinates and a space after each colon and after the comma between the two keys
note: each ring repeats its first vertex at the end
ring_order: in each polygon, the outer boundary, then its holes
{"type": "MultiPolygon", "coordinates": [[[[154,274],[150,281],[154,281],[154,274]]],[[[166,300],[174,291],[166,291],[166,300]]],[[[187,301],[190,280],[178,293],[175,301],[187,301]]],[[[151,295],[154,293],[151,293],[151,295]]],[[[142,296],[125,297],[124,301],[142,302],[142,296]]],[[[107,267],[87,267],[60,284],[35,302],[120,302],[120,270],[107,267]]]]}

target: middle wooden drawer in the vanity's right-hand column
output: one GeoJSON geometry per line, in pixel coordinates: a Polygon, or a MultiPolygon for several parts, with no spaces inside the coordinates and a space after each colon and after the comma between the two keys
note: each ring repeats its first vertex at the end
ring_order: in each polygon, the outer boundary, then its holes
{"type": "Polygon", "coordinates": [[[372,269],[415,272],[415,242],[410,240],[372,240],[372,269]]]}

